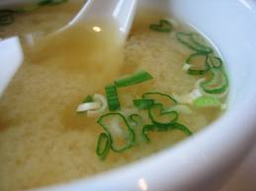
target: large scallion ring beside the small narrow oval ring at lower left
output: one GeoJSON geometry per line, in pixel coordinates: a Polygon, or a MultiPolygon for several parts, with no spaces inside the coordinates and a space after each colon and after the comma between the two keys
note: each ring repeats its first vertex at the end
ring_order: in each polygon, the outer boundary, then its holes
{"type": "Polygon", "coordinates": [[[102,115],[97,122],[108,133],[114,152],[122,153],[133,146],[134,132],[123,114],[108,113],[102,115]]]}

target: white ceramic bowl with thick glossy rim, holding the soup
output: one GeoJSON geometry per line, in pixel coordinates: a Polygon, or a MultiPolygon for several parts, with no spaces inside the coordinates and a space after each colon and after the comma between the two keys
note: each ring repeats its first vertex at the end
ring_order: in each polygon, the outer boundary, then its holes
{"type": "Polygon", "coordinates": [[[226,113],[157,155],[42,191],[217,190],[251,149],[256,138],[256,1],[141,0],[141,6],[172,13],[213,40],[230,79],[226,113]]]}

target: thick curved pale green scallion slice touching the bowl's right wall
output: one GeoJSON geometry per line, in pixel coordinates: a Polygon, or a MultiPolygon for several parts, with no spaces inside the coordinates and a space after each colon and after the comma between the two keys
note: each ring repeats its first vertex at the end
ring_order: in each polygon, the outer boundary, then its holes
{"type": "Polygon", "coordinates": [[[200,84],[205,93],[221,94],[228,88],[228,79],[225,72],[221,69],[213,68],[210,71],[211,78],[200,84]]]}

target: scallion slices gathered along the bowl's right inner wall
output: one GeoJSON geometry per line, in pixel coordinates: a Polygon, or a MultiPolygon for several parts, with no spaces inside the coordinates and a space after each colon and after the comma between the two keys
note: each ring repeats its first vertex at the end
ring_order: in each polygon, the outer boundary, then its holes
{"type": "Polygon", "coordinates": [[[216,56],[213,49],[205,45],[204,39],[195,32],[176,32],[176,39],[193,51],[184,66],[187,73],[202,77],[199,80],[199,89],[205,96],[194,100],[195,106],[221,106],[219,97],[228,92],[228,78],[221,58],[216,56]]]}

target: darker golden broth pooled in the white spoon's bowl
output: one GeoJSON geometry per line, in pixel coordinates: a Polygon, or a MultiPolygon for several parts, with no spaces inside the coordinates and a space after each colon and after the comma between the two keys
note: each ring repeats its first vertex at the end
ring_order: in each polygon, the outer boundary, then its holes
{"type": "MultiPolygon", "coordinates": [[[[119,71],[122,44],[114,30],[115,25],[106,22],[100,26],[100,32],[95,32],[93,25],[88,24],[48,35],[37,41],[36,48],[33,46],[28,62],[46,64],[88,77],[95,77],[94,71],[111,77],[119,71]]],[[[104,79],[99,77],[94,80],[104,79]]]]}

